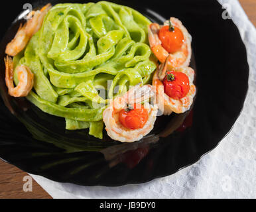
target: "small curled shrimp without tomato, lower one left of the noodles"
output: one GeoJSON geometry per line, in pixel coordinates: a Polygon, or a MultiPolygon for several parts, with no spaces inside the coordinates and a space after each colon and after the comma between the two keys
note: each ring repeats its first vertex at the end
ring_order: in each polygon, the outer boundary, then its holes
{"type": "Polygon", "coordinates": [[[17,66],[16,68],[19,84],[13,85],[13,60],[7,56],[5,58],[5,83],[8,87],[9,95],[13,97],[25,97],[31,91],[34,84],[34,75],[27,66],[17,66]]]}

